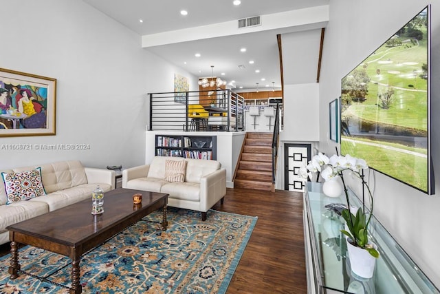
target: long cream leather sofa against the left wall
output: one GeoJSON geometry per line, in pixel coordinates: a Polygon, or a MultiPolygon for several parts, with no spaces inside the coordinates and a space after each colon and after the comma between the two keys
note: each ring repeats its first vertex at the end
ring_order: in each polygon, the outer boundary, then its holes
{"type": "Polygon", "coordinates": [[[40,216],[81,200],[91,199],[91,192],[97,185],[104,192],[115,187],[115,171],[83,167],[79,160],[3,169],[0,170],[0,173],[30,171],[37,167],[41,167],[41,180],[47,195],[29,200],[6,204],[8,198],[5,193],[3,177],[0,175],[0,244],[9,241],[9,233],[5,228],[10,224],[40,216]]]}

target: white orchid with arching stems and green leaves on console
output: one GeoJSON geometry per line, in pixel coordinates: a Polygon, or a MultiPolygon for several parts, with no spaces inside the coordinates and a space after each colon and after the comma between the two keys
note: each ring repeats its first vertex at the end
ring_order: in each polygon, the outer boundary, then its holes
{"type": "Polygon", "coordinates": [[[358,209],[355,215],[351,213],[349,209],[344,209],[341,213],[342,218],[347,222],[347,227],[349,231],[341,230],[344,235],[351,240],[351,244],[358,246],[375,257],[379,257],[379,252],[369,243],[368,239],[368,226],[373,216],[373,195],[369,185],[364,180],[364,174],[362,170],[368,169],[366,161],[361,158],[355,158],[347,154],[346,156],[333,155],[328,158],[325,154],[319,153],[314,156],[305,167],[301,167],[298,174],[302,178],[312,178],[313,174],[320,172],[320,175],[324,180],[334,180],[340,178],[342,180],[342,185],[344,186],[345,198],[347,200],[347,207],[350,207],[349,193],[347,186],[344,181],[344,171],[351,171],[355,176],[362,180],[362,185],[364,185],[369,193],[370,198],[370,213],[368,220],[365,216],[364,209],[358,209]]]}

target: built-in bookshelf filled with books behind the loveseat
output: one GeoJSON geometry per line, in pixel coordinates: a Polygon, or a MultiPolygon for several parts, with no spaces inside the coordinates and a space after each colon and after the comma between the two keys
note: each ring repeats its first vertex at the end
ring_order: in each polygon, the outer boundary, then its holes
{"type": "Polygon", "coordinates": [[[217,159],[217,136],[155,136],[155,155],[217,159]]]}

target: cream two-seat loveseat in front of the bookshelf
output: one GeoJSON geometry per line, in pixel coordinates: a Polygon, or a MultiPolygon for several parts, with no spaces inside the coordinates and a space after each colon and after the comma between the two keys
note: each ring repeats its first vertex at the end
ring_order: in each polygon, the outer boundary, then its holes
{"type": "Polygon", "coordinates": [[[201,212],[206,211],[226,194],[226,169],[217,160],[155,156],[150,165],[122,171],[122,188],[168,193],[168,205],[201,212]],[[184,182],[166,180],[166,160],[186,160],[184,182]]]}

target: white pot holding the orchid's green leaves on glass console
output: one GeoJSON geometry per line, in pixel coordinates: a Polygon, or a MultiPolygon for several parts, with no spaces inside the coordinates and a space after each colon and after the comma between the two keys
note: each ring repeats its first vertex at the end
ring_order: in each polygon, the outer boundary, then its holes
{"type": "MultiPolygon", "coordinates": [[[[359,277],[365,277],[367,279],[373,277],[376,258],[373,258],[373,256],[371,256],[369,251],[366,251],[366,249],[353,246],[349,242],[349,238],[346,238],[346,240],[347,252],[349,253],[350,258],[351,271],[359,277]]],[[[375,244],[373,244],[373,246],[375,248],[377,247],[375,246],[375,244]]]]}

